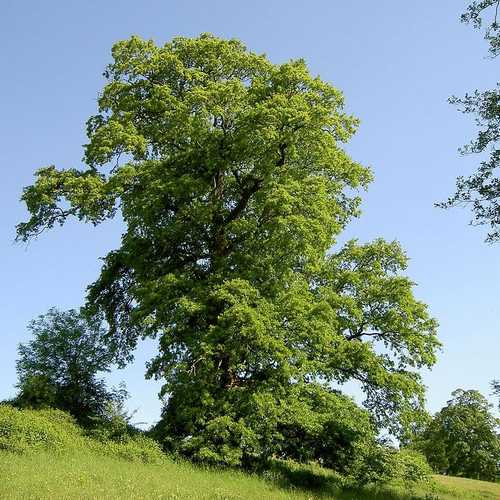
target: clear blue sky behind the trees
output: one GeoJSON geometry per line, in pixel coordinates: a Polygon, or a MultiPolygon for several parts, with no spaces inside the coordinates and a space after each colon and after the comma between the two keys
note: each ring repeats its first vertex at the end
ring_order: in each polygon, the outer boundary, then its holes
{"type": "MultiPolygon", "coordinates": [[[[82,304],[99,257],[119,243],[119,222],[70,223],[28,246],[14,244],[25,219],[18,201],[33,171],[81,165],[85,120],[110,61],[112,44],[132,34],[163,44],[176,35],[236,37],[273,62],[303,57],[339,87],[361,119],[351,155],[375,181],[363,215],[346,237],[398,239],[411,257],[416,294],[440,322],[439,362],[425,373],[428,408],[455,388],[489,392],[500,378],[500,244],[467,225],[465,210],[433,206],[451,194],[457,174],[477,157],[457,148],[472,138],[472,118],[447,103],[451,94],[491,88],[498,60],[481,34],[459,23],[467,2],[422,0],[2,0],[0,14],[0,399],[13,395],[17,344],[26,324],[51,306],[82,304]]],[[[132,394],[136,420],[159,415],[159,384],[144,380],[154,346],[111,376],[132,394]]]]}

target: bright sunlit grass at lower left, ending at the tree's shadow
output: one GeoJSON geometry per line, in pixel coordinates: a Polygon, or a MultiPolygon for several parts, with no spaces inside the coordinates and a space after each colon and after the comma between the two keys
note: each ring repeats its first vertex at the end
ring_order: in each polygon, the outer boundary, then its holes
{"type": "Polygon", "coordinates": [[[126,462],[91,454],[0,453],[1,498],[312,498],[257,477],[186,463],[126,462]]]}

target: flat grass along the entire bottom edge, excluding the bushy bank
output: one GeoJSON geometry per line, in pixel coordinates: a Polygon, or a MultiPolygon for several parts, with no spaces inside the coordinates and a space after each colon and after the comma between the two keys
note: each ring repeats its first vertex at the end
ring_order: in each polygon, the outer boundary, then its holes
{"type": "Polygon", "coordinates": [[[89,453],[19,455],[0,452],[0,498],[5,499],[500,499],[500,484],[435,477],[413,491],[392,485],[340,491],[334,482],[293,489],[276,481],[231,471],[127,462],[89,453]]]}

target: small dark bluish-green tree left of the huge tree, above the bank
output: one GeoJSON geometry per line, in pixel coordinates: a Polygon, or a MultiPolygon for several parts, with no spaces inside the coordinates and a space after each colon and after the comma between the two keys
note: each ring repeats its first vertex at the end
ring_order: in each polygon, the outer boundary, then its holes
{"type": "Polygon", "coordinates": [[[88,322],[75,310],[50,309],[28,329],[33,339],[19,345],[16,406],[59,408],[90,425],[126,398],[123,386],[108,390],[97,378],[112,363],[99,322],[88,322]]]}

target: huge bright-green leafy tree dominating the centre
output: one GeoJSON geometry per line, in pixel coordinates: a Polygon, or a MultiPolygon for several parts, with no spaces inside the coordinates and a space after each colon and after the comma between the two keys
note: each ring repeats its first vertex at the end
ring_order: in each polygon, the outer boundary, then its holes
{"type": "Polygon", "coordinates": [[[348,380],[400,430],[422,405],[436,323],[398,244],[328,254],[371,179],[341,147],[357,126],[342,94],[302,60],[211,35],[112,53],[86,167],[37,172],[18,238],[121,211],[87,312],[104,314],[121,360],[158,338],[148,376],[165,381],[165,442],[232,464],[286,454],[319,400],[345,406],[330,384],[348,380]]]}

